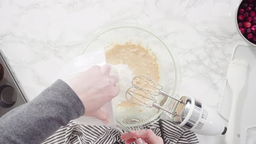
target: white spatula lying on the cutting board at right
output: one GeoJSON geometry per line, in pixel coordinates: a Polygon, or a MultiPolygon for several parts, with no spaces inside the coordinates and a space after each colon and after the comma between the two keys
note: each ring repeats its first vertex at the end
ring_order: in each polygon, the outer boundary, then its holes
{"type": "MultiPolygon", "coordinates": [[[[227,72],[227,82],[233,92],[232,107],[230,111],[230,118],[227,126],[225,142],[226,144],[233,144],[233,138],[235,134],[235,120],[236,120],[236,106],[237,99],[239,98],[240,92],[246,82],[248,63],[243,59],[234,59],[230,62],[229,69],[227,72]]],[[[240,106],[240,105],[238,105],[240,106]]]]}

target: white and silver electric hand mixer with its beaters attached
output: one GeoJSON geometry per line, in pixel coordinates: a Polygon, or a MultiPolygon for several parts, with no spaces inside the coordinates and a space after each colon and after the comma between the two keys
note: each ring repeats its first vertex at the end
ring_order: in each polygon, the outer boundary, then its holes
{"type": "Polygon", "coordinates": [[[203,105],[200,101],[187,95],[181,99],[168,95],[162,90],[161,85],[144,75],[135,76],[132,79],[132,85],[133,87],[129,88],[125,95],[129,102],[148,108],[162,109],[173,115],[173,121],[177,126],[197,134],[218,135],[226,133],[227,128],[217,112],[207,105],[203,105]],[[174,111],[169,111],[158,105],[154,99],[154,96],[158,95],[176,100],[174,111]]]}

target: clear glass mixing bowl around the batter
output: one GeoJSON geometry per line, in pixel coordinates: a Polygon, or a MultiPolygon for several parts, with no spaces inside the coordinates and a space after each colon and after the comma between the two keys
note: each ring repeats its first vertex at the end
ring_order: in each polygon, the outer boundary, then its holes
{"type": "MultiPolygon", "coordinates": [[[[89,38],[83,54],[102,47],[104,47],[105,51],[108,51],[112,48],[113,44],[124,44],[126,42],[140,43],[144,48],[151,49],[157,57],[160,71],[159,83],[163,86],[163,90],[170,95],[176,96],[180,82],[180,68],[176,54],[166,39],[155,35],[148,29],[148,27],[130,23],[108,26],[98,30],[89,38]]],[[[175,101],[165,97],[159,103],[162,107],[171,109],[175,101]]],[[[125,123],[127,127],[141,128],[159,120],[164,113],[163,110],[157,110],[157,113],[149,118],[146,115],[141,113],[138,121],[137,118],[130,118],[129,111],[127,110],[127,117],[130,119],[123,120],[122,118],[117,118],[125,123]],[[144,116],[146,118],[143,118],[144,116]]]]}

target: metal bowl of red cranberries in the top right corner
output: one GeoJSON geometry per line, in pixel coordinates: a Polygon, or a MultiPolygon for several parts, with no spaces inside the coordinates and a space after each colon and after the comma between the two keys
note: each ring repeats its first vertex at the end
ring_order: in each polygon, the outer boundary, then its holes
{"type": "Polygon", "coordinates": [[[236,27],[248,43],[256,46],[256,0],[242,0],[236,9],[236,27]]]}

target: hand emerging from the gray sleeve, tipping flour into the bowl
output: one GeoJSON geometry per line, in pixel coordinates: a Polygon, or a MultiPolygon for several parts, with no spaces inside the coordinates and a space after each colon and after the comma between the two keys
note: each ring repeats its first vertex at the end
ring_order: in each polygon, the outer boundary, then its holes
{"type": "Polygon", "coordinates": [[[85,107],[85,115],[98,118],[105,124],[109,116],[102,106],[118,95],[119,87],[116,85],[118,78],[110,76],[111,66],[98,65],[76,75],[68,85],[78,95],[85,107]]]}

